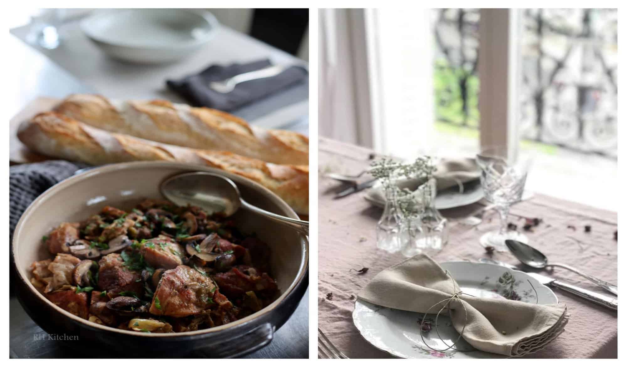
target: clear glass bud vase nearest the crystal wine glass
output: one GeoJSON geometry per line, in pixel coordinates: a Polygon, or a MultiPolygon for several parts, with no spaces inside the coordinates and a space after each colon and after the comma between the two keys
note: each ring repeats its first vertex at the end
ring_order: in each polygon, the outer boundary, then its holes
{"type": "Polygon", "coordinates": [[[447,221],[435,209],[436,181],[431,178],[414,193],[416,212],[401,223],[401,246],[405,257],[439,252],[448,242],[447,221]]]}

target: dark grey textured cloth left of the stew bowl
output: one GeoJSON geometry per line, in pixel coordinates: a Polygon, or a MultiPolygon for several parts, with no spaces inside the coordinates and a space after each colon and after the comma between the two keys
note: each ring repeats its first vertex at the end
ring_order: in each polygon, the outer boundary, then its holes
{"type": "Polygon", "coordinates": [[[57,182],[85,167],[88,165],[65,160],[47,160],[9,167],[9,240],[13,240],[13,231],[18,225],[19,217],[33,200],[57,182]]]}

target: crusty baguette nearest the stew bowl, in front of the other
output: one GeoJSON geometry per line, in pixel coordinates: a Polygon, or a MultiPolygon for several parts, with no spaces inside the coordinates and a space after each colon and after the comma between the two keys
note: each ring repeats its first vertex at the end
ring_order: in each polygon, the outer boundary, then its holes
{"type": "Polygon", "coordinates": [[[309,210],[307,166],[276,165],[231,152],[150,142],[105,132],[56,112],[40,113],[21,123],[18,138],[35,152],[91,165],[135,160],[207,165],[250,178],[277,194],[299,214],[307,214],[309,210]]]}

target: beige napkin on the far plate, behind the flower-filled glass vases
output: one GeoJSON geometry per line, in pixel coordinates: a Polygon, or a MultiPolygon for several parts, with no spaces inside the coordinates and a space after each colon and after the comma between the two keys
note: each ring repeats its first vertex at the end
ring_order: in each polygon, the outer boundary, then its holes
{"type": "MultiPolygon", "coordinates": [[[[440,192],[451,187],[458,187],[466,182],[478,180],[481,177],[481,171],[474,158],[443,158],[438,163],[433,176],[436,179],[438,192],[440,192]]],[[[424,178],[406,178],[398,180],[396,185],[400,189],[416,192],[424,183],[424,178]]],[[[376,202],[382,204],[386,202],[382,187],[368,189],[366,195],[376,202]]]]}

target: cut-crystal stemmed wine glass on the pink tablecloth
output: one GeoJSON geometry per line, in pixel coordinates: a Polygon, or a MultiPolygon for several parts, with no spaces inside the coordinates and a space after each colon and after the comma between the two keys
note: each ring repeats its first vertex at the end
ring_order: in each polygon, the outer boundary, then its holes
{"type": "Polygon", "coordinates": [[[504,147],[482,150],[477,155],[481,168],[481,185],[485,199],[496,205],[500,215],[500,229],[483,234],[480,243],[483,247],[492,246],[497,251],[505,251],[505,240],[527,242],[527,236],[508,229],[507,216],[510,206],[520,201],[525,189],[530,159],[528,157],[507,158],[504,147]]]}

